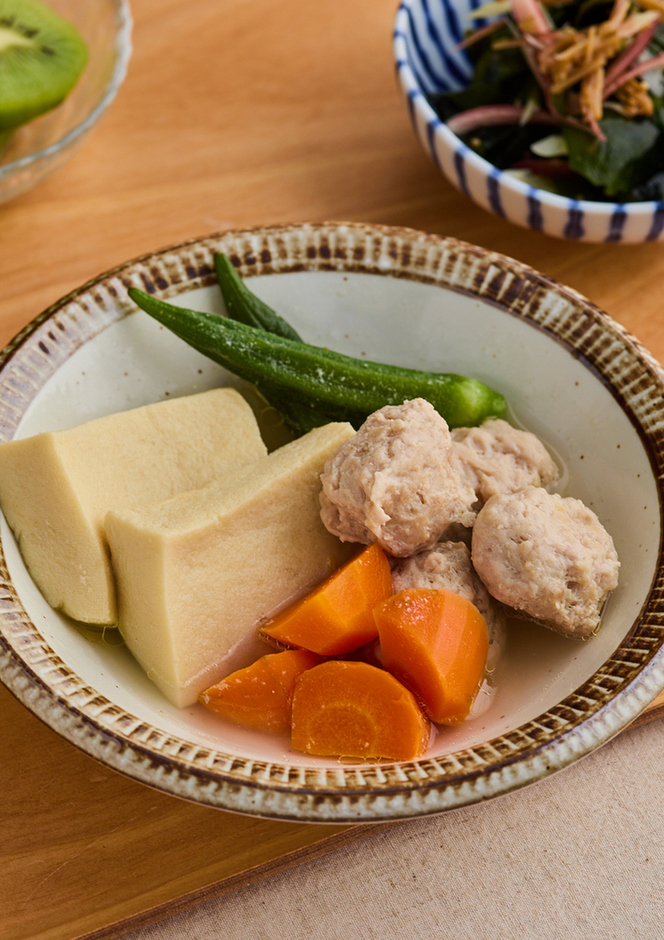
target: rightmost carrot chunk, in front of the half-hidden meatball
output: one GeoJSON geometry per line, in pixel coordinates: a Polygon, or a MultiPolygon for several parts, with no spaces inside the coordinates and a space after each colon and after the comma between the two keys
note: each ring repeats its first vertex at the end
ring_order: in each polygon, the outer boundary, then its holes
{"type": "Polygon", "coordinates": [[[374,610],[385,669],[411,689],[435,722],[468,717],[484,677],[486,621],[452,591],[408,588],[374,610]]]}

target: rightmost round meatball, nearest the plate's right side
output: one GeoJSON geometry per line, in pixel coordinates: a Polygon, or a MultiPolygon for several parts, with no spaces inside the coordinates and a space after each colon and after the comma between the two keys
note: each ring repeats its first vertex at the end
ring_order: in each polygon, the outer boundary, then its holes
{"type": "Polygon", "coordinates": [[[573,637],[598,628],[618,583],[613,540],[595,513],[537,486],[487,500],[472,561],[493,597],[573,637]]]}

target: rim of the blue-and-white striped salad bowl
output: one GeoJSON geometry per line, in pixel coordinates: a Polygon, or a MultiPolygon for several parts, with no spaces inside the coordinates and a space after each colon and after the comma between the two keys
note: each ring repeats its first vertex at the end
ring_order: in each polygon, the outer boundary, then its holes
{"type": "MultiPolygon", "coordinates": [[[[593,212],[600,216],[614,216],[616,212],[624,212],[627,215],[652,215],[655,212],[664,211],[664,199],[645,199],[640,202],[600,202],[592,199],[573,199],[570,196],[562,196],[559,193],[552,193],[547,189],[540,189],[530,183],[525,183],[518,177],[512,176],[505,170],[499,170],[493,163],[490,163],[484,157],[480,156],[471,147],[465,144],[454,131],[450,130],[447,124],[441,120],[434,109],[427,101],[426,94],[417,79],[415,71],[410,63],[408,55],[407,34],[409,32],[409,10],[415,5],[420,4],[422,0],[401,0],[394,20],[394,32],[392,36],[392,52],[395,63],[395,69],[399,84],[403,93],[406,95],[410,106],[419,112],[425,121],[431,134],[441,139],[454,151],[463,151],[464,159],[472,166],[478,169],[484,176],[500,179],[501,185],[506,189],[518,193],[520,196],[533,196],[536,194],[540,202],[545,202],[551,206],[564,209],[566,211],[578,209],[583,213],[593,212]]],[[[438,164],[436,151],[433,146],[430,152],[434,161],[438,164]]],[[[438,164],[442,172],[442,168],[438,164]]]]}

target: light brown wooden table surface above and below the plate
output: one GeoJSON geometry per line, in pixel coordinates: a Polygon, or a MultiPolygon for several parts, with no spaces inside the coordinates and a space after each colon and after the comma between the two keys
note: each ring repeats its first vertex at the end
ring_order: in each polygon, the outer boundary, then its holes
{"type": "MultiPolygon", "coordinates": [[[[0,206],[3,344],[135,256],[222,229],[334,219],[452,235],[527,262],[664,360],[664,245],[527,232],[475,207],[429,163],[397,89],[396,3],[132,0],[132,11],[134,54],[111,109],[68,164],[0,206]]],[[[76,752],[4,690],[0,702],[0,804],[13,823],[0,869],[7,940],[111,936],[361,834],[152,793],[76,752]],[[223,836],[232,864],[202,861],[192,834],[223,836]],[[165,844],[167,876],[156,862],[165,844]]]]}

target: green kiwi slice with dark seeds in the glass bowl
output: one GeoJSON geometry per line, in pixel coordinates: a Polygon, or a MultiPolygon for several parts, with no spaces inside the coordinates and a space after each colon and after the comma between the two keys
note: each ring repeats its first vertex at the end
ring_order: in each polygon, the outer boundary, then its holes
{"type": "Polygon", "coordinates": [[[87,60],[78,30],[41,0],[0,0],[0,132],[59,105],[87,60]]]}

